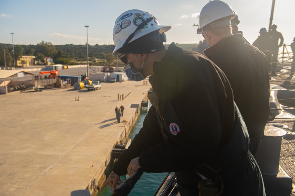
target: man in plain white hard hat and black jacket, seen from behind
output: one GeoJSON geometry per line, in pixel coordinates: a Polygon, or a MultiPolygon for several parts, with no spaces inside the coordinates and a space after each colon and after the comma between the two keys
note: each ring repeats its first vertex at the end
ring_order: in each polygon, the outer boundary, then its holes
{"type": "Polygon", "coordinates": [[[209,47],[204,51],[225,73],[234,98],[247,125],[249,150],[256,155],[270,114],[270,63],[257,48],[245,43],[242,34],[232,35],[231,20],[236,17],[223,1],[210,1],[200,12],[198,34],[209,47]]]}

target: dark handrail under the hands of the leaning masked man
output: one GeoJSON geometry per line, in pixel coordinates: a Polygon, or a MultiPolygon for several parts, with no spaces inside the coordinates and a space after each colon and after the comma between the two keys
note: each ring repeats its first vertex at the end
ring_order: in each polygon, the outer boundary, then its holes
{"type": "Polygon", "coordinates": [[[117,187],[114,190],[111,196],[127,196],[142,174],[143,174],[142,168],[139,168],[138,170],[136,170],[132,174],[132,176],[130,176],[127,180],[125,180],[119,187],[117,187]]]}

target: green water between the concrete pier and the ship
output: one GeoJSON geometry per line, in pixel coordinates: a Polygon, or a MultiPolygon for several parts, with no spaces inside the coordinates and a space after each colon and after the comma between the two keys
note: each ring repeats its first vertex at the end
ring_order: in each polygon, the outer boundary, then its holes
{"type": "MultiPolygon", "coordinates": [[[[143,108],[136,123],[135,126],[129,134],[129,139],[133,139],[134,136],[139,132],[140,128],[142,127],[143,120],[145,119],[145,116],[147,115],[147,111],[143,108]]],[[[164,177],[167,175],[167,173],[146,173],[144,172],[143,175],[140,177],[140,180],[137,181],[131,192],[129,193],[129,196],[152,196],[155,191],[158,189],[159,185],[163,181],[164,177]]],[[[128,177],[128,175],[127,175],[128,177]]],[[[121,176],[121,179],[124,181],[126,180],[126,176],[121,176]]],[[[99,192],[97,196],[108,196],[112,195],[112,188],[110,185],[106,185],[103,191],[99,192]]]]}

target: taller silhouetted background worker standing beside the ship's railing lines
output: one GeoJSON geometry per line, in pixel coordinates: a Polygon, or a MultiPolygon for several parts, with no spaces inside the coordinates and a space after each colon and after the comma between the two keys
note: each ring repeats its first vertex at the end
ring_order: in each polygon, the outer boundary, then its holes
{"type": "Polygon", "coordinates": [[[268,35],[273,38],[273,43],[274,43],[274,46],[275,46],[275,49],[273,51],[273,59],[272,59],[274,63],[271,63],[272,68],[273,68],[272,72],[271,72],[272,76],[276,76],[276,66],[277,66],[277,63],[278,63],[278,48],[283,46],[283,42],[284,42],[284,38],[282,36],[282,33],[276,31],[276,28],[277,28],[277,25],[274,24],[273,26],[271,26],[271,31],[268,32],[268,35]],[[278,44],[279,39],[281,40],[280,44],[278,44]]]}

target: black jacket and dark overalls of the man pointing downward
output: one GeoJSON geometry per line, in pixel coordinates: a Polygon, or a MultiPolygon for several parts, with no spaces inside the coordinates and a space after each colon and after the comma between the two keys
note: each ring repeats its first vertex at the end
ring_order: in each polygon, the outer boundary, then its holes
{"type": "MultiPolygon", "coordinates": [[[[176,172],[182,194],[196,195],[196,171],[215,178],[213,172],[198,167],[206,163],[215,170],[222,168],[224,192],[241,191],[243,183],[255,183],[244,187],[263,192],[258,166],[250,160],[247,129],[237,118],[224,73],[205,56],[182,52],[174,43],[162,61],[154,63],[153,70],[149,81],[153,92],[158,93],[163,123],[152,106],[139,133],[114,163],[113,172],[127,174],[130,160],[139,157],[145,172],[176,172]],[[239,185],[232,184],[235,182],[239,185]]],[[[247,191],[245,195],[249,195],[247,191]]]]}

